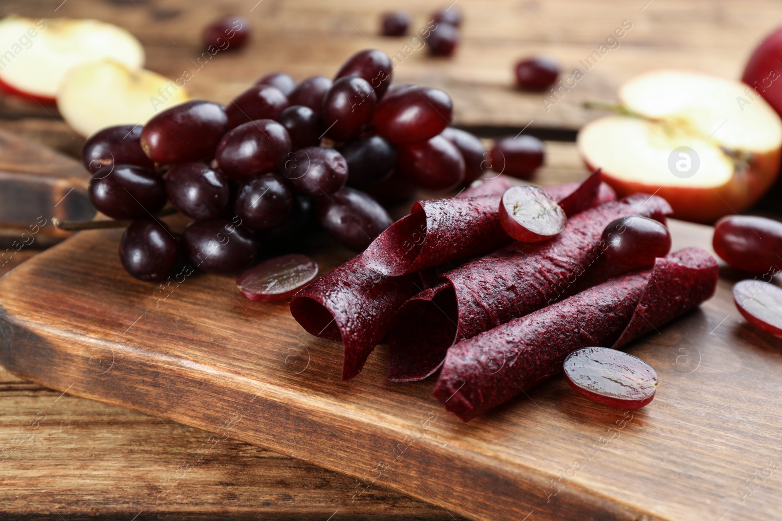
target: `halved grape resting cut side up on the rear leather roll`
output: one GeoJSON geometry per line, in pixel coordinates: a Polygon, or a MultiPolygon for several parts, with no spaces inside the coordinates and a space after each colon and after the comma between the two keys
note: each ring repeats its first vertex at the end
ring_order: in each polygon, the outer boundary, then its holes
{"type": "Polygon", "coordinates": [[[543,188],[511,187],[500,200],[500,226],[516,241],[546,241],[562,230],[568,217],[543,188]]]}

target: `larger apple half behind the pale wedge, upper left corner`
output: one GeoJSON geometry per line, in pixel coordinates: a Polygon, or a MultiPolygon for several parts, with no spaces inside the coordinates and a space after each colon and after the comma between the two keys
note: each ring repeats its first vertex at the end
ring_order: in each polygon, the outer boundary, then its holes
{"type": "Polygon", "coordinates": [[[71,67],[111,58],[130,69],[144,65],[144,48],[120,27],[99,20],[0,20],[0,90],[38,102],[55,102],[71,67]],[[0,51],[2,52],[2,51],[0,51]]]}

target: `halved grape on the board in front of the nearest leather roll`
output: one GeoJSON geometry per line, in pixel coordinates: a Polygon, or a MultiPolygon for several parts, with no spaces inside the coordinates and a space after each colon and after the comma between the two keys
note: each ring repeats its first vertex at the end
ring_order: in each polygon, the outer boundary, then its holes
{"type": "Polygon", "coordinates": [[[657,373],[643,360],[610,348],[573,351],[562,367],[573,391],[615,409],[640,409],[655,398],[657,373]]]}

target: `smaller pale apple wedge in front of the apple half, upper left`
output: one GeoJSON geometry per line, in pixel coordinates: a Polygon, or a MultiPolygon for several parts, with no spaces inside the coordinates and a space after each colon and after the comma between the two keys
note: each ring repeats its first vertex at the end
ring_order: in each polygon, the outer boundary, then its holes
{"type": "Polygon", "coordinates": [[[158,112],[190,99],[184,87],[149,70],[131,70],[110,59],[82,63],[59,85],[57,109],[83,136],[115,125],[144,124],[158,112]]]}

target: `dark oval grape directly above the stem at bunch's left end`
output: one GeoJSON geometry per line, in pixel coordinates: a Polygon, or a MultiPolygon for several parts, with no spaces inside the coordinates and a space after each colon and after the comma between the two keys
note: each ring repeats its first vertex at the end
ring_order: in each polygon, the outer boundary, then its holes
{"type": "Polygon", "coordinates": [[[104,166],[88,186],[92,205],[113,219],[147,217],[166,204],[163,177],[141,166],[104,166]]]}

